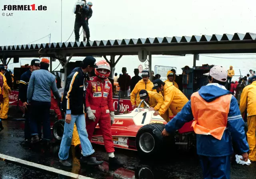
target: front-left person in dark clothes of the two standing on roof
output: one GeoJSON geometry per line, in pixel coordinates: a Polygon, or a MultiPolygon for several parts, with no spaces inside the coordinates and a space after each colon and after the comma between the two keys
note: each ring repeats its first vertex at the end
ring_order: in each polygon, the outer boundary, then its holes
{"type": "Polygon", "coordinates": [[[80,37],[79,30],[81,26],[86,32],[87,41],[90,41],[90,30],[86,21],[86,14],[88,13],[88,11],[89,11],[89,8],[88,6],[86,6],[86,0],[82,0],[74,8],[74,14],[76,14],[76,20],[74,25],[74,33],[76,36],[76,41],[79,41],[79,37],[80,37]]]}

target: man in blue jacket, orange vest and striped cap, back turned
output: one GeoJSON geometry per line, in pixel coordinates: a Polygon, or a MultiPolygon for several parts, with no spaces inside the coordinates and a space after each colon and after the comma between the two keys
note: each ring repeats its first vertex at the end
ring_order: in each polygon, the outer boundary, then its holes
{"type": "Polygon", "coordinates": [[[197,153],[204,179],[230,179],[232,140],[240,149],[242,160],[248,160],[244,121],[236,98],[224,87],[227,76],[223,67],[212,67],[209,84],[192,94],[162,132],[162,136],[168,136],[194,119],[192,127],[197,134],[197,153]]]}

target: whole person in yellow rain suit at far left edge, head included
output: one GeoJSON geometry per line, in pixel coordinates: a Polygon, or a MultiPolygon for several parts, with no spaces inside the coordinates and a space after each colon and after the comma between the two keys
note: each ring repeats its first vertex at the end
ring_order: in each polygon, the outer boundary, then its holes
{"type": "Polygon", "coordinates": [[[3,90],[2,90],[2,101],[1,102],[1,110],[0,110],[0,119],[7,119],[8,116],[8,110],[9,110],[9,93],[12,91],[10,87],[7,84],[6,77],[4,74],[6,73],[7,69],[4,66],[0,67],[0,75],[2,76],[2,81],[3,81],[3,90]]]}

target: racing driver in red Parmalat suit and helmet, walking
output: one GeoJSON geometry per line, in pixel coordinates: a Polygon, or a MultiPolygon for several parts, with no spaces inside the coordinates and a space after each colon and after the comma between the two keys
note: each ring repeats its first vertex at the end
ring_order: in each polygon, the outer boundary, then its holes
{"type": "Polygon", "coordinates": [[[96,77],[90,78],[86,89],[86,130],[89,140],[95,127],[99,124],[102,130],[104,146],[109,156],[109,163],[113,167],[120,167],[120,163],[114,155],[114,143],[112,141],[111,125],[114,122],[114,106],[112,99],[112,84],[107,79],[110,75],[110,65],[106,60],[96,63],[96,77]]]}

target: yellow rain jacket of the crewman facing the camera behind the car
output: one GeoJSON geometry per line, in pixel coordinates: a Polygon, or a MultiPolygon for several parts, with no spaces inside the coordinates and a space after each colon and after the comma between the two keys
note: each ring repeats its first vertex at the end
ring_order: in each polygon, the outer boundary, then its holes
{"type": "Polygon", "coordinates": [[[152,90],[152,88],[154,87],[153,83],[148,80],[148,83],[144,83],[143,79],[141,79],[134,87],[134,89],[132,90],[130,96],[131,96],[131,103],[132,105],[135,104],[135,96],[136,97],[136,106],[138,106],[140,104],[140,95],[139,92],[140,90],[144,89],[147,91],[156,91],[156,90],[152,90]]]}

